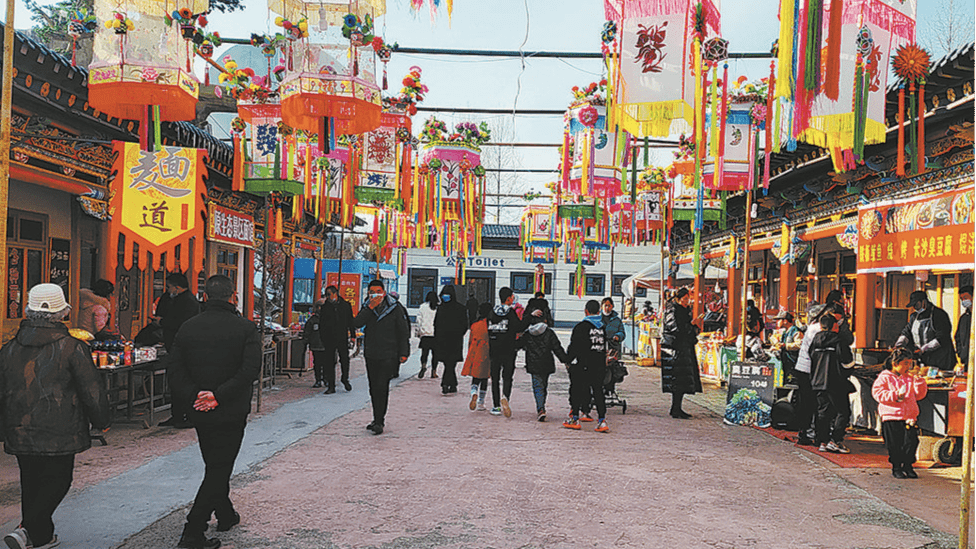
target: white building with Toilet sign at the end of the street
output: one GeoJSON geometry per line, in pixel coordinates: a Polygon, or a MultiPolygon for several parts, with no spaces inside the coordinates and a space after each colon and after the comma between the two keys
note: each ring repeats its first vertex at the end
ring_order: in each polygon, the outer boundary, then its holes
{"type": "MultiPolygon", "coordinates": [[[[485,225],[482,231],[481,255],[466,259],[465,284],[458,285],[458,299],[466,302],[469,294],[479,302],[491,300],[498,302],[498,291],[511,288],[516,299],[523,305],[535,293],[536,263],[526,263],[522,259],[519,246],[519,227],[517,225],[485,225]]],[[[562,254],[561,254],[562,255],[562,254]]],[[[587,300],[600,300],[611,296],[617,310],[622,310],[623,294],[620,285],[625,278],[640,271],[649,264],[660,261],[659,246],[617,246],[613,251],[600,252],[595,265],[585,266],[586,292],[581,298],[573,291],[576,264],[543,264],[546,277],[546,299],[552,308],[556,322],[569,324],[578,322],[583,316],[583,306],[587,300]]],[[[454,284],[458,273],[457,258],[445,257],[438,250],[410,250],[407,253],[406,279],[401,278],[400,288],[406,290],[401,302],[407,305],[411,316],[424,302],[427,292],[439,292],[447,284],[454,284]]],[[[637,306],[650,299],[646,289],[637,292],[637,306]]],[[[657,306],[656,294],[653,303],[657,306]]]]}

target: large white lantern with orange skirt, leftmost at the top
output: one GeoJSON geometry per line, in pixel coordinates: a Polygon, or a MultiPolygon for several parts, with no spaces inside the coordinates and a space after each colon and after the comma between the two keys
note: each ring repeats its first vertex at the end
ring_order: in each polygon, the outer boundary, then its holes
{"type": "Polygon", "coordinates": [[[200,86],[192,72],[191,43],[196,25],[206,21],[207,0],[96,0],[94,6],[96,18],[106,24],[95,33],[89,65],[91,106],[141,121],[142,128],[151,119],[196,118],[200,86]]]}

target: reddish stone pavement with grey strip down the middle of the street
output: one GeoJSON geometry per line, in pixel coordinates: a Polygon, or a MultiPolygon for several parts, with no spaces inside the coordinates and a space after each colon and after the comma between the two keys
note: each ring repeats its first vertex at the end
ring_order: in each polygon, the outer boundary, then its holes
{"type": "MultiPolygon", "coordinates": [[[[470,412],[466,379],[445,397],[437,380],[407,378],[418,367],[414,355],[403,368],[381,436],[364,428],[362,390],[315,391],[255,418],[232,482],[243,522],[219,535],[224,546],[955,546],[957,484],[931,471],[911,482],[840,470],[723,425],[695,404],[714,406],[715,389],[689,398],[694,419],[673,420],[656,369],[630,368],[627,413],[612,408],[601,434],[560,426],[561,368],[550,422],[539,423],[521,368],[506,419],[470,412]]],[[[62,546],[174,547],[201,476],[190,445],[73,491],[55,518],[62,546]]]]}

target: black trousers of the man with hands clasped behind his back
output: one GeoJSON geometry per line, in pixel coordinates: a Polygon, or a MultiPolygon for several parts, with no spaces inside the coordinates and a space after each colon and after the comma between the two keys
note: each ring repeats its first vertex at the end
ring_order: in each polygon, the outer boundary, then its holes
{"type": "Polygon", "coordinates": [[[230,476],[234,462],[241,451],[244,427],[247,421],[196,425],[203,454],[204,474],[193,507],[186,516],[186,532],[203,534],[212,515],[217,520],[230,520],[234,516],[234,504],[230,501],[230,476]]]}

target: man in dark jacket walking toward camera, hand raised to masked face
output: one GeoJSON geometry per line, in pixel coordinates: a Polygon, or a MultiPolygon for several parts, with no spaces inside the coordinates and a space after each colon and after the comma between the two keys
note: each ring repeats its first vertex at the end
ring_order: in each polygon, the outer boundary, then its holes
{"type": "Polygon", "coordinates": [[[410,321],[407,310],[386,293],[382,280],[369,283],[368,299],[353,319],[353,326],[365,326],[363,356],[369,380],[373,421],[366,426],[374,435],[383,433],[390,402],[390,380],[410,356],[410,321]]]}

